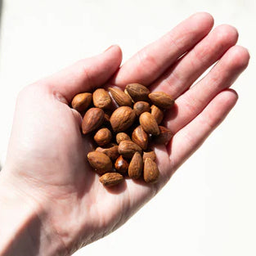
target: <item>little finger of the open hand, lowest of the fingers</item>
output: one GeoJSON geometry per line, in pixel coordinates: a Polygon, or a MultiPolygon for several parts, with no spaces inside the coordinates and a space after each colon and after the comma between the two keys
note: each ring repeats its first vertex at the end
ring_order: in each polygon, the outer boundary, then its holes
{"type": "Polygon", "coordinates": [[[236,92],[231,89],[220,92],[200,115],[174,135],[172,143],[168,145],[173,170],[194,153],[214,128],[222,123],[235,106],[237,98],[236,92]]]}

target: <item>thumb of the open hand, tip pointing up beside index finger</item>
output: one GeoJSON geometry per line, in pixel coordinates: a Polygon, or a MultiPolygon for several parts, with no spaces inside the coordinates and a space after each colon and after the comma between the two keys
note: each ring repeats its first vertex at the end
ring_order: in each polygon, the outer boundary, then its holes
{"type": "Polygon", "coordinates": [[[122,52],[118,46],[112,46],[98,56],[78,61],[47,78],[52,92],[59,92],[70,102],[75,94],[89,92],[103,85],[119,68],[122,52]]]}

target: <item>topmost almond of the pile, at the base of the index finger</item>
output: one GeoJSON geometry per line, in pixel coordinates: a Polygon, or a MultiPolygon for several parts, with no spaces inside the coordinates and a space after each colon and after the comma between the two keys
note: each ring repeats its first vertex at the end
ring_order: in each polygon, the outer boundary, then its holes
{"type": "Polygon", "coordinates": [[[140,83],[129,83],[126,86],[126,90],[135,102],[149,100],[148,95],[150,90],[140,83]]]}

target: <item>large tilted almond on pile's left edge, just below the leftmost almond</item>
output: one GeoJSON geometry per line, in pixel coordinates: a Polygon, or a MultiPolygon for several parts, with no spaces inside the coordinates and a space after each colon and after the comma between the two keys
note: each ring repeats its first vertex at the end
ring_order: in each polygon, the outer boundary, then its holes
{"type": "Polygon", "coordinates": [[[83,134],[88,134],[99,128],[104,122],[104,111],[99,108],[87,110],[83,116],[82,130],[83,134]]]}

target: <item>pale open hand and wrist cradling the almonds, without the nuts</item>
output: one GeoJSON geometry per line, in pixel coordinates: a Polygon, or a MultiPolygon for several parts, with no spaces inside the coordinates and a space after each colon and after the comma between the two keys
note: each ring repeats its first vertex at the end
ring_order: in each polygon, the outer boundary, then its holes
{"type": "Polygon", "coordinates": [[[249,62],[235,28],[212,27],[212,16],[197,13],[121,67],[121,50],[112,46],[20,92],[0,173],[1,256],[70,255],[115,231],[168,182],[235,106],[230,87],[249,62]],[[166,117],[174,136],[155,147],[158,183],[127,179],[108,190],[88,166],[91,144],[69,103],[79,92],[134,82],[176,99],[166,117]]]}

